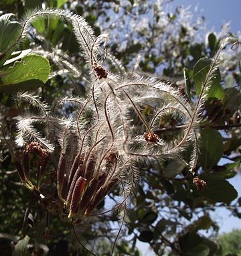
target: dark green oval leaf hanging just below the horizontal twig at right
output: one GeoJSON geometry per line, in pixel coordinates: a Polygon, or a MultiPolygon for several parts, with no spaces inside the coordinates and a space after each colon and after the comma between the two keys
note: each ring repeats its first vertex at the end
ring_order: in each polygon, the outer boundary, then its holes
{"type": "Polygon", "coordinates": [[[222,135],[215,129],[201,130],[199,164],[204,170],[218,164],[224,152],[222,135]]]}

